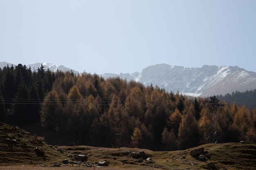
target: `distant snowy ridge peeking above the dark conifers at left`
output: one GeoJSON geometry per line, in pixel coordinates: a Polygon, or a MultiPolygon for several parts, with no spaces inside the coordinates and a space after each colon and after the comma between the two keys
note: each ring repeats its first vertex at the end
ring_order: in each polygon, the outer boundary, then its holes
{"type": "MultiPolygon", "coordinates": [[[[49,70],[53,71],[53,72],[55,72],[57,70],[63,71],[63,72],[67,72],[67,71],[71,71],[72,70],[72,69],[67,68],[67,67],[65,67],[63,65],[57,66],[57,65],[52,64],[50,62],[28,64],[28,65],[26,65],[26,67],[27,68],[30,67],[31,70],[33,71],[33,70],[37,70],[41,66],[41,64],[44,66],[45,70],[47,70],[49,68],[49,70]]],[[[11,63],[8,63],[8,62],[0,62],[0,68],[4,68],[4,66],[7,66],[7,65],[9,65],[9,66],[13,65],[14,67],[16,66],[15,64],[11,64],[11,63]]],[[[78,71],[75,71],[75,70],[72,70],[72,71],[74,72],[74,74],[78,74],[79,73],[78,71]]]]}

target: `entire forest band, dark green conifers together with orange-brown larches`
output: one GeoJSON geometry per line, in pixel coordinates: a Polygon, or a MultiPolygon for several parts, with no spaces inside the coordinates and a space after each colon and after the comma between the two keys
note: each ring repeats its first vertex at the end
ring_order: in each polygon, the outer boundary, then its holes
{"type": "Polygon", "coordinates": [[[256,110],[229,102],[213,106],[209,99],[158,86],[52,72],[43,65],[33,71],[22,64],[0,69],[0,121],[40,122],[47,130],[65,132],[76,145],[186,149],[209,143],[213,119],[218,143],[256,142],[256,110]]]}

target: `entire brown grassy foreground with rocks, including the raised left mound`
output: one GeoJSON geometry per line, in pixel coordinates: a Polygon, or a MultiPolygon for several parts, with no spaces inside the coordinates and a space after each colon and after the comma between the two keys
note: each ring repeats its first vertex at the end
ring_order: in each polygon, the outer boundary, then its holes
{"type": "Polygon", "coordinates": [[[91,146],[49,146],[42,138],[19,127],[0,123],[0,169],[51,169],[54,162],[65,169],[117,170],[254,170],[256,144],[252,142],[204,144],[177,151],[152,151],[139,148],[101,148],[91,146]],[[38,149],[36,149],[38,148],[38,149]],[[198,154],[199,153],[199,154],[198,154]],[[198,154],[198,155],[197,155],[198,154]],[[79,161],[79,155],[82,155],[79,161]],[[199,155],[206,155],[200,161],[199,155]],[[132,158],[133,157],[133,158],[132,158]],[[141,158],[142,159],[139,159],[141,158]],[[146,160],[147,158],[152,160],[146,160]],[[84,159],[85,158],[85,159],[84,159]],[[67,160],[66,160],[67,159],[67,160]]]}

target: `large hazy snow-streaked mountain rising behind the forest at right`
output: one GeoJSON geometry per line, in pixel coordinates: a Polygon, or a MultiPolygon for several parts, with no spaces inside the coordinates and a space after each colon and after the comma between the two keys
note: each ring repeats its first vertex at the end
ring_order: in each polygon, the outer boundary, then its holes
{"type": "Polygon", "coordinates": [[[157,64],[142,71],[126,74],[103,74],[104,78],[117,77],[135,80],[145,86],[153,84],[166,91],[177,91],[194,96],[225,95],[235,91],[256,89],[256,73],[238,66],[207,66],[186,68],[157,64]]]}

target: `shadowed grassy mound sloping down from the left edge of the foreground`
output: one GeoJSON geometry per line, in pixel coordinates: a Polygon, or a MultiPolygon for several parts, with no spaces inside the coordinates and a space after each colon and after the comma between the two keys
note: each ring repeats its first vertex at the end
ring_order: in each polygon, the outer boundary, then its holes
{"type": "Polygon", "coordinates": [[[59,161],[64,155],[45,144],[43,137],[31,135],[18,126],[0,123],[0,164],[44,164],[59,161]]]}

